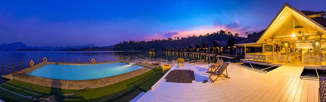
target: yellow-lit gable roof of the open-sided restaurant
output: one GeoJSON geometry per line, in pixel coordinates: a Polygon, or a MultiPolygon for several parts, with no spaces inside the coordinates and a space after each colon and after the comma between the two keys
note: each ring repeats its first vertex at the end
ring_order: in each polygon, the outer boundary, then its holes
{"type": "Polygon", "coordinates": [[[305,28],[310,28],[326,34],[326,28],[324,26],[285,3],[256,43],[271,41],[272,39],[270,38],[274,36],[283,36],[284,34],[291,36],[291,34],[286,33],[287,30],[297,25],[303,25],[305,28]],[[293,25],[294,21],[296,21],[296,25],[293,25]]]}

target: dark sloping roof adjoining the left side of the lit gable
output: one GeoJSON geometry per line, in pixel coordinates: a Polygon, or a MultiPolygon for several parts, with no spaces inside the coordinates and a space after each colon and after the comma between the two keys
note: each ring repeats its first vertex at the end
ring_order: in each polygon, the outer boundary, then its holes
{"type": "Polygon", "coordinates": [[[248,38],[245,38],[244,40],[235,43],[234,45],[246,45],[246,44],[256,43],[265,30],[259,31],[258,33],[251,35],[248,38]]]}

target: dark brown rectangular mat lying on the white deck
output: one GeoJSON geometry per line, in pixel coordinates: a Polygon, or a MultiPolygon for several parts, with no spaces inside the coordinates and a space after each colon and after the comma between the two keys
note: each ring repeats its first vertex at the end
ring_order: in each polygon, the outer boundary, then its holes
{"type": "Polygon", "coordinates": [[[172,70],[165,79],[167,79],[166,82],[192,83],[192,80],[195,80],[195,74],[191,70],[172,70]]]}

